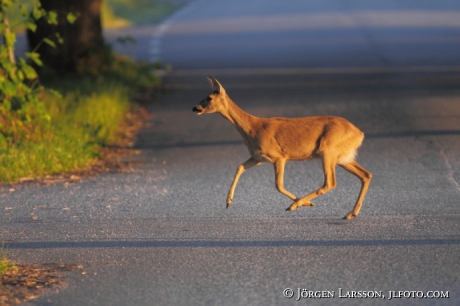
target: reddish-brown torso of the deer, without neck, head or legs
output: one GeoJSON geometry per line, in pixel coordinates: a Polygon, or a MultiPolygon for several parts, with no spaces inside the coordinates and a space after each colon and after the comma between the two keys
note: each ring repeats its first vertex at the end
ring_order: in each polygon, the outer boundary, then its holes
{"type": "Polygon", "coordinates": [[[363,132],[340,117],[258,118],[253,124],[249,151],[269,161],[305,160],[324,153],[340,158],[356,152],[364,138],[363,132]]]}

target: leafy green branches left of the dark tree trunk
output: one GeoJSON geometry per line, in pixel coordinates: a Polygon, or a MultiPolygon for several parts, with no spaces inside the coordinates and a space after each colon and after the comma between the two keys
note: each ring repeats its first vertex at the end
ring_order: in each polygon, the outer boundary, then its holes
{"type": "MultiPolygon", "coordinates": [[[[36,29],[35,22],[41,17],[46,17],[49,23],[56,22],[55,13],[46,12],[38,0],[33,1],[31,14],[16,0],[0,0],[0,37],[4,41],[0,45],[0,147],[29,137],[34,128],[32,121],[49,120],[41,101],[44,88],[38,83],[35,69],[25,59],[16,61],[14,56],[16,35],[7,14],[13,6],[19,7],[23,23],[31,30],[36,29]]],[[[27,52],[26,57],[42,65],[38,53],[27,52]]]]}

